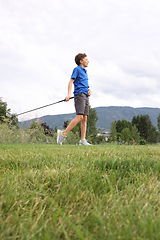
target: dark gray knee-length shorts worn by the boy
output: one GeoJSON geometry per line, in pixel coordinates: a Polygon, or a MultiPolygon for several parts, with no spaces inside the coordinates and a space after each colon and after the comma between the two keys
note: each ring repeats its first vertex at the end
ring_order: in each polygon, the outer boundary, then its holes
{"type": "Polygon", "coordinates": [[[89,97],[84,93],[74,96],[76,115],[89,115],[89,97]]]}

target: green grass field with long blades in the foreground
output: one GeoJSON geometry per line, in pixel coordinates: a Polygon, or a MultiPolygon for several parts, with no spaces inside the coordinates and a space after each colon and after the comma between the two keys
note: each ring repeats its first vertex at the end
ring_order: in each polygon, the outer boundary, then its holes
{"type": "Polygon", "coordinates": [[[0,145],[0,239],[160,239],[160,146],[0,145]]]}

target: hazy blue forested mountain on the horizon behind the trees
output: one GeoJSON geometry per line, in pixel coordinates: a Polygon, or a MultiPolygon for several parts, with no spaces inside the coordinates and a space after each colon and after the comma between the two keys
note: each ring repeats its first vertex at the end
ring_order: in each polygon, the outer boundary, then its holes
{"type": "MultiPolygon", "coordinates": [[[[97,107],[98,121],[97,128],[101,128],[101,131],[109,131],[112,121],[118,121],[125,119],[132,121],[133,116],[140,114],[148,114],[152,124],[157,127],[157,117],[160,113],[160,108],[133,108],[133,107],[97,107]]],[[[71,121],[76,116],[75,113],[59,114],[59,115],[46,115],[39,118],[40,122],[46,122],[49,127],[55,129],[55,126],[62,128],[64,121],[71,121]]],[[[21,122],[21,125],[28,127],[33,121],[37,119],[31,119],[21,122]]]]}

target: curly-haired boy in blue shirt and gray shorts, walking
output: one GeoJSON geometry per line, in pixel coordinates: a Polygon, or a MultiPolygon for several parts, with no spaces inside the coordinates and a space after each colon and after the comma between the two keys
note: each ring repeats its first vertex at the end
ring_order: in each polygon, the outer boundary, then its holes
{"type": "Polygon", "coordinates": [[[67,133],[81,121],[81,140],[79,145],[91,145],[85,139],[87,116],[89,115],[89,96],[92,91],[88,85],[88,75],[86,67],[88,67],[88,58],[84,53],[79,53],[75,57],[75,62],[78,65],[73,69],[71,79],[68,84],[68,95],[65,100],[69,101],[71,97],[72,85],[74,84],[74,104],[76,109],[76,117],[70,122],[68,127],[64,130],[57,130],[57,143],[62,145],[67,133]]]}

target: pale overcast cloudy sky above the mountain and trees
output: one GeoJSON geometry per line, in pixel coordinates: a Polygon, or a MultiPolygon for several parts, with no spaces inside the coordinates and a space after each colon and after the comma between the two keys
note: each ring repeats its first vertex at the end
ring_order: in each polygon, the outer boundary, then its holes
{"type": "MultiPolygon", "coordinates": [[[[160,108],[159,29],[159,0],[0,0],[0,97],[17,114],[64,99],[86,53],[92,108],[160,108]]],[[[19,120],[72,112],[70,100],[19,120]]]]}

